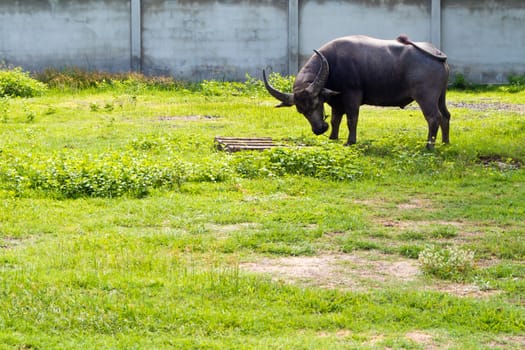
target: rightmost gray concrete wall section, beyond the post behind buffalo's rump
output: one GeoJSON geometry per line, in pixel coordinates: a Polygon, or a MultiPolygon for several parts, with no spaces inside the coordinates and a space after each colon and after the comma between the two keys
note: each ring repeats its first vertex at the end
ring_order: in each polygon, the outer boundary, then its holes
{"type": "Polygon", "coordinates": [[[525,0],[442,0],[442,48],[475,82],[525,75],[525,0]]]}

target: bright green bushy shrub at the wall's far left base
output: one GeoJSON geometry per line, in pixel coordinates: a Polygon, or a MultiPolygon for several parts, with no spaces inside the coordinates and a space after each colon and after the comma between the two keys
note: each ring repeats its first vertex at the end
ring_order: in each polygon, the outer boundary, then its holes
{"type": "Polygon", "coordinates": [[[0,69],[0,97],[33,97],[46,91],[45,84],[31,78],[22,68],[0,69]]]}

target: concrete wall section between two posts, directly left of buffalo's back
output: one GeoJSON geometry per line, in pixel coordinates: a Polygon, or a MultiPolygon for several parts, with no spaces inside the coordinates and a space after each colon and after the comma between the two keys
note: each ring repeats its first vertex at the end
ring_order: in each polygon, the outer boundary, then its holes
{"type": "Polygon", "coordinates": [[[244,79],[269,65],[287,71],[286,0],[142,2],[147,74],[244,79]]]}

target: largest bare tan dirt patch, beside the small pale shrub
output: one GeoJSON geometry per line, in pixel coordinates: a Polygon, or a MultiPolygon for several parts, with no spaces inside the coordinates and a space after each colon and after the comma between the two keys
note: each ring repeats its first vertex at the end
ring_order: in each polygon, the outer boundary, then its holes
{"type": "Polygon", "coordinates": [[[440,291],[460,297],[482,298],[497,293],[470,284],[432,282],[422,278],[416,260],[373,252],[262,258],[241,263],[239,267],[267,274],[274,281],[347,291],[366,292],[371,288],[405,284],[407,289],[440,291]]]}

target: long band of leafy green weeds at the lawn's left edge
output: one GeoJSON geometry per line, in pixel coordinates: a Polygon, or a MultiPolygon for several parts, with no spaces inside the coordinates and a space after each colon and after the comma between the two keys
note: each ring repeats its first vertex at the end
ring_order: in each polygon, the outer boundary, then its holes
{"type": "Polygon", "coordinates": [[[188,177],[186,165],[181,161],[170,159],[159,164],[136,154],[9,158],[0,175],[3,183],[7,183],[7,190],[17,196],[36,190],[59,198],[142,197],[153,188],[176,188],[188,177]]]}

